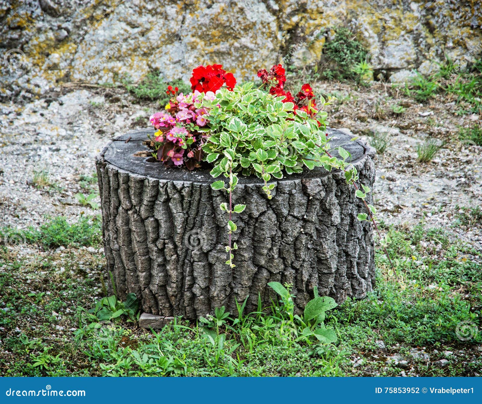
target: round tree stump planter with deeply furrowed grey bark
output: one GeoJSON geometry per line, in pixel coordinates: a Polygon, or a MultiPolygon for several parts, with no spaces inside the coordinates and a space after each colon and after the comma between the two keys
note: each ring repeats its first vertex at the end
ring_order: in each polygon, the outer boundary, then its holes
{"type": "MultiPolygon", "coordinates": [[[[334,149],[342,145],[351,153],[360,182],[372,187],[374,149],[328,132],[334,149]]],[[[216,179],[209,170],[149,162],[144,141],[153,133],[122,135],[96,158],[107,270],[119,298],[134,292],[141,299],[147,313],[141,325],[160,327],[176,315],[195,320],[220,306],[233,313],[236,300],[246,297],[246,312],[254,311],[258,294],[264,305],[277,299],[267,286],[273,281],[293,284],[297,312],[314,286],[338,303],[372,290],[371,225],[358,221],[366,208],[343,172],[315,168],[286,175],[274,181],[271,200],[262,180],[240,175],[233,205],[246,209],[233,216],[239,248],[231,269],[225,264],[227,215],[219,209],[228,195],[211,189],[216,179]]]]}

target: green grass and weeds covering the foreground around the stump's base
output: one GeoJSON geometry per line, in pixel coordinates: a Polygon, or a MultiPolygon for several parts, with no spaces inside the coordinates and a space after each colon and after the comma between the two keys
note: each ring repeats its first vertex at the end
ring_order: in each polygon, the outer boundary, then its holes
{"type": "Polygon", "coordinates": [[[389,254],[376,252],[377,286],[363,300],[348,299],[326,319],[334,345],[277,336],[270,308],[230,313],[215,324],[182,319],[151,332],[123,316],[99,323],[88,310],[102,296],[102,259],[72,246],[60,254],[26,258],[0,246],[2,376],[477,376],[482,360],[460,323],[481,327],[480,252],[444,229],[384,228],[389,254]],[[380,348],[376,341],[383,341],[380,348]],[[430,361],[414,359],[425,350],[430,361]],[[447,357],[444,351],[454,352],[447,357]],[[402,356],[407,368],[390,358],[402,356]],[[434,363],[448,359],[446,366],[434,363]],[[357,363],[355,365],[355,363],[357,363]]]}

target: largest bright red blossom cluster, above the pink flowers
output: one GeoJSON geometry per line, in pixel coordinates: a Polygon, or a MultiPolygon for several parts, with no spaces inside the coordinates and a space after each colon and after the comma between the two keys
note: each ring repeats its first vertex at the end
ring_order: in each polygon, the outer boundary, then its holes
{"type": "Polygon", "coordinates": [[[208,91],[215,93],[225,83],[226,87],[232,91],[236,85],[233,74],[226,73],[223,65],[198,66],[192,70],[190,81],[192,91],[198,90],[201,93],[208,91]]]}

